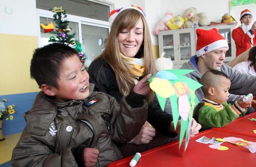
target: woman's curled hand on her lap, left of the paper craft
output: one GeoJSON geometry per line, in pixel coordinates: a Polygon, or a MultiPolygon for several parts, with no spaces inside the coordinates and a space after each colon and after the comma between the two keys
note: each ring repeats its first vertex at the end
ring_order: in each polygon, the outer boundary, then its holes
{"type": "Polygon", "coordinates": [[[128,143],[146,144],[146,143],[149,143],[155,135],[156,135],[156,129],[153,128],[151,124],[146,121],[143,127],[141,128],[140,133],[128,143]]]}

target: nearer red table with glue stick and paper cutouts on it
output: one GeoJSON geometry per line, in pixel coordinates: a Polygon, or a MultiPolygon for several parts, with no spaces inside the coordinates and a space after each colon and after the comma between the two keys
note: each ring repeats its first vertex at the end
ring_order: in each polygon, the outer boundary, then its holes
{"type": "MultiPolygon", "coordinates": [[[[195,141],[202,136],[208,138],[237,137],[256,142],[256,138],[250,136],[210,129],[190,138],[183,157],[183,151],[179,149],[179,142],[174,141],[141,153],[142,156],[135,167],[256,167],[256,153],[250,153],[245,147],[238,147],[227,142],[221,145],[229,147],[229,150],[212,149],[209,148],[210,144],[195,141]]],[[[129,163],[132,157],[115,161],[107,167],[130,167],[129,163]]]]}

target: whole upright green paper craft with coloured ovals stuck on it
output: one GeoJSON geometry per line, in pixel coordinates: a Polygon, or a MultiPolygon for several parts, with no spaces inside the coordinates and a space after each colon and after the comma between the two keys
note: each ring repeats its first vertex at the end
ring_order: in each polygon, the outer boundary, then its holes
{"type": "Polygon", "coordinates": [[[179,117],[181,117],[179,147],[186,134],[184,152],[186,151],[190,138],[193,111],[199,103],[195,95],[195,90],[202,86],[193,79],[183,76],[193,71],[188,69],[162,70],[148,80],[150,82],[150,88],[156,93],[162,110],[165,108],[166,99],[170,98],[175,129],[179,117]]]}

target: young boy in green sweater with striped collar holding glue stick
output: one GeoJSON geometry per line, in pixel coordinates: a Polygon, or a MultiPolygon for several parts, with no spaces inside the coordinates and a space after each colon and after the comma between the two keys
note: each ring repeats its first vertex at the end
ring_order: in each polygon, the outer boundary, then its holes
{"type": "Polygon", "coordinates": [[[240,98],[233,105],[226,102],[231,82],[223,72],[210,70],[204,73],[199,83],[203,85],[205,96],[195,110],[195,114],[204,129],[223,127],[239,116],[245,115],[247,108],[251,106],[253,97],[249,97],[246,102],[240,98]]]}

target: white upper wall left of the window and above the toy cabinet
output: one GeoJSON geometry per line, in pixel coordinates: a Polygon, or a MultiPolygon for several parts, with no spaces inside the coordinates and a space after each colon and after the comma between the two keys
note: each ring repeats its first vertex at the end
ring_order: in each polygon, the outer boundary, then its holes
{"type": "MultiPolygon", "coordinates": [[[[182,15],[189,7],[196,7],[198,12],[205,12],[209,21],[220,22],[224,13],[229,13],[229,0],[108,0],[115,8],[140,6],[145,10],[151,37],[158,45],[157,36],[152,32],[167,9],[174,15],[182,15]]],[[[35,0],[0,0],[0,33],[37,36],[37,13],[35,0]],[[5,13],[5,7],[13,10],[5,13]]]]}

